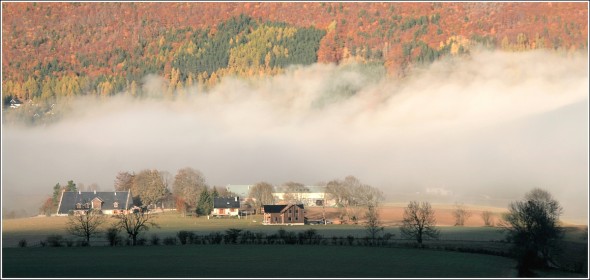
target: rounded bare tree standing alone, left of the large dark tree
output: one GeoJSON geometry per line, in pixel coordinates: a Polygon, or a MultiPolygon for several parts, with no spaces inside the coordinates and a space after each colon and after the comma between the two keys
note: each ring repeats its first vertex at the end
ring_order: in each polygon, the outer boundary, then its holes
{"type": "Polygon", "coordinates": [[[404,209],[404,217],[400,231],[406,238],[416,239],[422,244],[426,239],[437,239],[440,230],[436,227],[434,210],[428,202],[411,201],[404,209]]]}

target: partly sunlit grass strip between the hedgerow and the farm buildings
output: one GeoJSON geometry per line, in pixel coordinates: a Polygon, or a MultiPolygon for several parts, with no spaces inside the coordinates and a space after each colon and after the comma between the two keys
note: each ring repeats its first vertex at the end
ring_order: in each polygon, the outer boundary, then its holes
{"type": "MultiPolygon", "coordinates": [[[[268,226],[260,223],[261,216],[250,216],[247,219],[207,219],[207,217],[182,217],[176,213],[169,212],[158,214],[155,221],[159,228],[150,229],[143,234],[149,238],[156,234],[160,238],[176,236],[180,230],[188,230],[199,235],[212,232],[224,232],[228,228],[239,228],[252,232],[264,232],[267,234],[276,233],[280,228],[288,231],[300,232],[315,228],[324,237],[346,237],[352,235],[356,238],[366,236],[363,225],[305,225],[305,226],[268,226]]],[[[66,238],[69,236],[65,230],[67,217],[40,217],[10,219],[2,221],[2,247],[15,247],[19,240],[26,239],[28,244],[38,244],[48,235],[60,234],[66,238]]],[[[107,224],[114,222],[114,219],[107,219],[107,224]]],[[[466,240],[466,241],[492,241],[504,238],[504,233],[499,228],[493,227],[440,227],[441,239],[444,240],[466,240]]],[[[386,233],[391,233],[394,238],[400,238],[399,228],[395,226],[385,227],[386,233]]],[[[97,238],[95,242],[104,242],[104,238],[97,238]]]]}

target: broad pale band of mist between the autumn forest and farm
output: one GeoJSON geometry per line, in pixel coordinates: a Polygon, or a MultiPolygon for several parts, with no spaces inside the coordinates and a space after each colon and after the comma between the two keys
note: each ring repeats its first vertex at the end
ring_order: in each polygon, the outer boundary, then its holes
{"type": "Polygon", "coordinates": [[[587,63],[482,52],[401,80],[318,64],[175,99],[150,76],[149,97],[80,99],[58,123],[3,125],[2,204],[34,213],[58,182],[112,190],[119,171],[193,167],[217,186],[354,175],[391,202],[506,207],[541,187],[585,222],[587,63]]]}

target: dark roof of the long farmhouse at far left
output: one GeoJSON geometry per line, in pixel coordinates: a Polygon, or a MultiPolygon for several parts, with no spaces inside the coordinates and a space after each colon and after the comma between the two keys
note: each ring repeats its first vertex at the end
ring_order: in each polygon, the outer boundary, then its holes
{"type": "Polygon", "coordinates": [[[57,214],[68,214],[70,210],[76,209],[76,203],[92,203],[92,200],[98,198],[103,201],[102,210],[122,210],[131,208],[131,197],[128,191],[122,192],[63,192],[57,214]],[[119,202],[119,207],[115,208],[115,202],[119,202]]]}

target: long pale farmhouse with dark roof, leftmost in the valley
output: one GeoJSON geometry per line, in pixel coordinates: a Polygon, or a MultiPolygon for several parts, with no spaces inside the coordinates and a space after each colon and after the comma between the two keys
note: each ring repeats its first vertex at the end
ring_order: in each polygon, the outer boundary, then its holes
{"type": "Polygon", "coordinates": [[[113,215],[127,213],[132,206],[131,191],[64,191],[61,193],[57,215],[84,214],[88,210],[99,210],[103,214],[113,215]]]}

